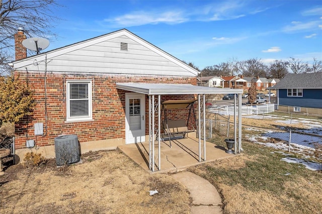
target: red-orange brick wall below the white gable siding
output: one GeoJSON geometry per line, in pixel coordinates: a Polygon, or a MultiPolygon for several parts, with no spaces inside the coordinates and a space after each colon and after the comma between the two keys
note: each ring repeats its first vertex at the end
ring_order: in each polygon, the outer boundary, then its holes
{"type": "MultiPolygon", "coordinates": [[[[18,71],[16,71],[16,74],[18,71]]],[[[28,79],[35,90],[36,108],[32,117],[16,124],[16,149],[26,148],[26,140],[33,139],[37,146],[54,145],[54,138],[62,134],[76,134],[79,142],[107,139],[125,139],[125,92],[116,88],[117,82],[144,83],[186,83],[196,85],[195,77],[164,77],[134,75],[67,75],[47,73],[47,133],[46,136],[34,135],[34,124],[44,124],[45,134],[45,89],[44,74],[21,71],[20,78],[28,79]],[[66,122],[66,80],[92,80],[93,121],[66,122]]],[[[193,98],[193,95],[162,96],[167,99],[193,98]]],[[[146,96],[146,117],[148,118],[148,97],[146,96]]],[[[189,110],[172,110],[170,119],[186,118],[189,110]]],[[[148,135],[148,120],[146,120],[148,135]]]]}

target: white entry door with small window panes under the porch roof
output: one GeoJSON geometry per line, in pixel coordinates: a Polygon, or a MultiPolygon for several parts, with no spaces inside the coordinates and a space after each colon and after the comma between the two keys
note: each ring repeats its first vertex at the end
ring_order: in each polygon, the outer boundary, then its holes
{"type": "Polygon", "coordinates": [[[125,144],[145,142],[145,94],[125,93],[125,144]]]}

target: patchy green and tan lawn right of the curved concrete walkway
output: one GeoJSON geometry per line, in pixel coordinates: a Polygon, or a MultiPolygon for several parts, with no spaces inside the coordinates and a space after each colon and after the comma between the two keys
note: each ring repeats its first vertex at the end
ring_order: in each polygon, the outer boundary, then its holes
{"type": "MultiPolygon", "coordinates": [[[[210,114],[209,114],[210,117],[210,114]]],[[[243,126],[254,127],[243,135],[267,129],[305,128],[302,124],[277,123],[276,119],[243,118],[243,126]]],[[[212,138],[224,146],[226,136],[212,138]]],[[[224,213],[322,213],[322,171],[281,161],[277,149],[243,139],[243,155],[191,167],[188,170],[212,183],[223,200],[224,213]]],[[[285,151],[284,151],[285,152],[285,151]]],[[[302,158],[297,154],[290,157],[302,158]]]]}

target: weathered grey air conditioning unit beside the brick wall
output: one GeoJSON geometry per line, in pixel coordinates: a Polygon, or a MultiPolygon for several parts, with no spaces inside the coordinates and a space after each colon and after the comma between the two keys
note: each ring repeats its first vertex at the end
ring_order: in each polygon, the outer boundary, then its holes
{"type": "Polygon", "coordinates": [[[55,138],[56,165],[63,166],[81,160],[81,148],[77,135],[63,135],[55,138]]]}

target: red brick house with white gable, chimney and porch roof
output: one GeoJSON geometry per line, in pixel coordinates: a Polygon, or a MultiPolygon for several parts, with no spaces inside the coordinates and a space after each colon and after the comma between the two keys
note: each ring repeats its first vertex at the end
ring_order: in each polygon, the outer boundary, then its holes
{"type": "MultiPolygon", "coordinates": [[[[30,57],[24,39],[18,31],[11,65],[35,90],[37,104],[32,117],[16,124],[15,151],[21,158],[32,141],[39,153],[54,157],[54,138],[61,135],[77,135],[83,153],[154,142],[149,132],[155,129],[149,117],[154,96],[160,102],[242,93],[196,86],[199,71],[126,29],[30,57]]],[[[168,119],[188,114],[171,110],[168,119]]]]}

